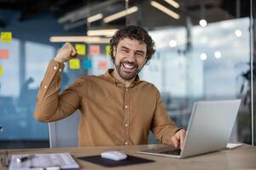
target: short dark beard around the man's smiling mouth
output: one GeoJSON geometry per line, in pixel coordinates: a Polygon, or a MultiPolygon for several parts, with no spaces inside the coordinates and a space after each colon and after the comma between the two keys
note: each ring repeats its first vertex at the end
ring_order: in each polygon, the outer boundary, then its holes
{"type": "Polygon", "coordinates": [[[124,80],[133,79],[142,70],[142,68],[138,67],[137,63],[127,60],[120,61],[119,64],[115,64],[115,68],[119,74],[119,77],[123,78],[124,80]]]}

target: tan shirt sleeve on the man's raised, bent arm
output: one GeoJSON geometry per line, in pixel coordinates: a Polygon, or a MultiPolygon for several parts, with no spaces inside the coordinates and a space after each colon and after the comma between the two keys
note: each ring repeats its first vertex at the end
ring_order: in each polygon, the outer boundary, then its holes
{"type": "Polygon", "coordinates": [[[54,122],[70,116],[79,109],[83,98],[81,94],[83,81],[79,78],[59,94],[63,69],[64,64],[54,59],[50,60],[38,90],[37,105],[34,111],[34,117],[39,122],[54,122]]]}

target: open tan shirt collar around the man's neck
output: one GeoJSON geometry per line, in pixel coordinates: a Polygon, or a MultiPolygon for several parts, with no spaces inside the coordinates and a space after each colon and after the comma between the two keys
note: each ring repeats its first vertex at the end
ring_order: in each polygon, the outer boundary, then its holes
{"type": "MultiPolygon", "coordinates": [[[[121,87],[125,87],[125,84],[123,84],[122,82],[119,82],[117,79],[115,79],[111,73],[113,72],[113,69],[108,69],[108,71],[105,72],[104,75],[102,75],[101,77],[103,77],[105,80],[107,80],[108,82],[113,82],[118,86],[121,87]]],[[[133,82],[131,82],[131,88],[133,88],[134,86],[136,86],[138,83],[140,82],[140,78],[137,75],[134,79],[133,82]]]]}

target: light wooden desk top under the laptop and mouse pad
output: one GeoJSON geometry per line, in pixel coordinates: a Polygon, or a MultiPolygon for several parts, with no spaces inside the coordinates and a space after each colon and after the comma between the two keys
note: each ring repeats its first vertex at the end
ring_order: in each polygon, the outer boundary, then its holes
{"type": "MultiPolygon", "coordinates": [[[[241,147],[232,150],[220,150],[202,156],[194,156],[186,159],[176,159],[164,156],[149,156],[138,154],[136,150],[152,149],[160,147],[160,144],[148,145],[131,145],[131,146],[113,146],[113,147],[83,147],[83,148],[55,148],[55,149],[25,149],[25,150],[8,150],[9,155],[27,154],[27,153],[56,153],[69,152],[74,157],[100,155],[105,150],[123,150],[132,156],[139,156],[154,160],[155,162],[131,165],[125,167],[113,167],[115,169],[140,169],[140,170],[172,170],[172,169],[256,169],[256,146],[243,144],[241,147]]],[[[5,150],[0,150],[0,153],[5,150]]],[[[76,159],[81,169],[109,169],[96,164],[76,159]]],[[[0,169],[4,169],[0,167],[0,169]]],[[[5,168],[6,169],[6,168],[5,168]]]]}

